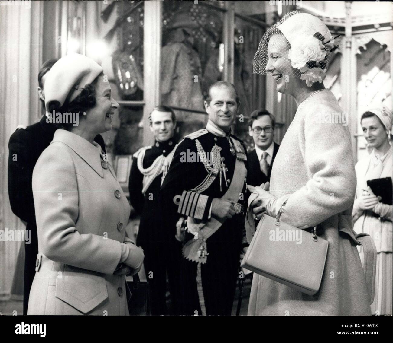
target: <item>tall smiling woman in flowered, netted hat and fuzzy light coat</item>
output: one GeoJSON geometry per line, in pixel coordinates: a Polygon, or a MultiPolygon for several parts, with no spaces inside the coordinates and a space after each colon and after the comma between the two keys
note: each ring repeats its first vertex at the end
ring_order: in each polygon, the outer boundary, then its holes
{"type": "Polygon", "coordinates": [[[351,223],[356,175],[343,111],[322,83],[333,50],[321,20],[292,11],[266,31],[255,54],[254,73],[272,73],[277,91],[292,95],[298,110],[275,157],[270,192],[267,184],[257,187],[250,209],[257,218],[264,211],[275,217],[286,200],[280,220],[306,230],[318,225],[329,248],[313,296],[254,274],[249,315],[371,314],[354,232],[342,225],[351,223]]]}

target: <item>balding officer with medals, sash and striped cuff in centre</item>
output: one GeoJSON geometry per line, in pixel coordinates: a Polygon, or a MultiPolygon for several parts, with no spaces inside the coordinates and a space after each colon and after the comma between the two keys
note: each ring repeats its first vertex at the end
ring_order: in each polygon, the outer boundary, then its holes
{"type": "Polygon", "coordinates": [[[224,81],[204,102],[206,129],[179,143],[163,181],[165,227],[182,240],[182,314],[230,315],[244,234],[246,148],[231,134],[239,98],[224,81]],[[186,227],[186,229],[185,229],[186,227]]]}

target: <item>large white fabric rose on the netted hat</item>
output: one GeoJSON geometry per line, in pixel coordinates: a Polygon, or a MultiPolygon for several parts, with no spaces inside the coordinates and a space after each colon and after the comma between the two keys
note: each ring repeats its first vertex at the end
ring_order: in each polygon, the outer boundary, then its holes
{"type": "Polygon", "coordinates": [[[300,69],[309,61],[320,62],[325,59],[326,50],[322,42],[313,36],[302,34],[294,40],[288,52],[292,67],[300,69]]]}

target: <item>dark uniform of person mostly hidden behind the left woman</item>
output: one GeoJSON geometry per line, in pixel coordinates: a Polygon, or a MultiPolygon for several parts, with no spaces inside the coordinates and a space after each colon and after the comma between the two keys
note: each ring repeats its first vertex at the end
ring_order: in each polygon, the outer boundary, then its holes
{"type": "MultiPolygon", "coordinates": [[[[25,244],[23,314],[27,314],[29,292],[35,274],[35,261],[38,254],[37,225],[31,180],[35,163],[42,151],[53,140],[56,128],[46,122],[43,116],[38,123],[26,129],[16,130],[8,142],[8,195],[12,212],[26,221],[26,230],[31,230],[31,243],[25,244]]],[[[105,143],[100,134],[95,142],[101,145],[104,152],[105,143]]]]}

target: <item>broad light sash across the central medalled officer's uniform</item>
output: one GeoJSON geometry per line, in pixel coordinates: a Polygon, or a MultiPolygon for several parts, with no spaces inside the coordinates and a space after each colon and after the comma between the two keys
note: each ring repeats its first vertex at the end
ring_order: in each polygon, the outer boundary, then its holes
{"type": "MultiPolygon", "coordinates": [[[[237,203],[240,197],[240,193],[243,189],[244,178],[246,177],[246,166],[244,161],[240,161],[236,159],[235,163],[235,171],[233,172],[232,183],[230,184],[228,190],[222,196],[223,200],[230,200],[234,203],[237,203]]],[[[198,252],[202,244],[206,247],[206,240],[216,232],[220,226],[224,223],[225,219],[219,218],[211,218],[208,221],[195,221],[192,217],[187,217],[187,227],[191,227],[191,225],[200,225],[203,224],[202,229],[198,232],[198,236],[196,239],[196,235],[194,238],[185,243],[183,247],[183,255],[187,260],[195,261],[199,263],[206,263],[206,256],[199,256],[198,252]]]]}

